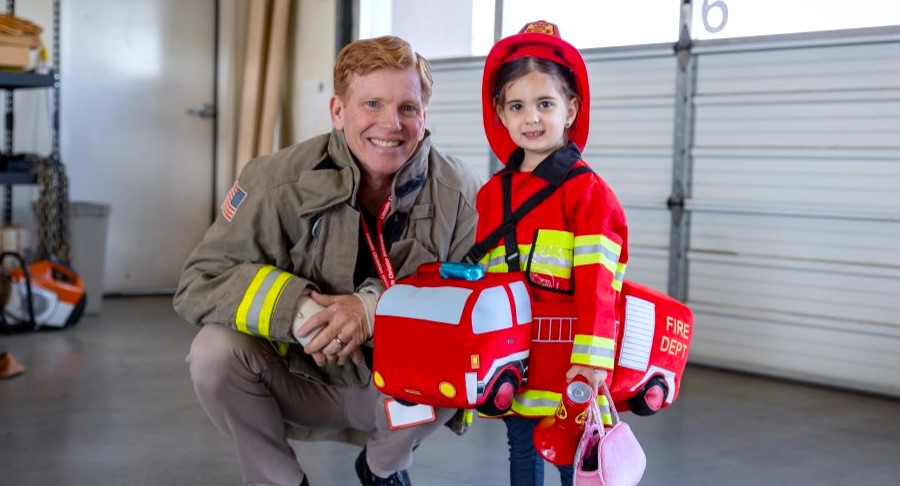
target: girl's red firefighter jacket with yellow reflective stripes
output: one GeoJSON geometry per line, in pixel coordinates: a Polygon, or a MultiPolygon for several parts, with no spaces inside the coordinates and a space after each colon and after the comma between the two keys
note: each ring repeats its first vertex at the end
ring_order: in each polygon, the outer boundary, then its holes
{"type": "Polygon", "coordinates": [[[616,301],[628,261],[628,230],[617,198],[595,173],[563,182],[569,170],[587,165],[574,144],[554,152],[534,172],[519,172],[520,162],[514,154],[479,191],[475,239],[481,241],[504,221],[504,178],[511,182],[512,208],[547,184],[562,184],[516,222],[515,247],[507,244],[511,238],[504,238],[481,260],[488,272],[525,273],[535,317],[577,316],[572,329],[534,328],[527,388],[515,397],[512,409],[543,416],[559,404],[572,364],[613,368],[616,301]],[[515,258],[507,261],[512,252],[518,252],[518,268],[510,268],[515,258]]]}

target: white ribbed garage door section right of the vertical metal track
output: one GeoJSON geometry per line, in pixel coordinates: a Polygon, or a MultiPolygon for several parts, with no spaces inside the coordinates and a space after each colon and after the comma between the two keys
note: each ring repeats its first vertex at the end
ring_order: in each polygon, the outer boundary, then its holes
{"type": "Polygon", "coordinates": [[[692,359],[900,395],[900,42],[695,52],[692,359]]]}

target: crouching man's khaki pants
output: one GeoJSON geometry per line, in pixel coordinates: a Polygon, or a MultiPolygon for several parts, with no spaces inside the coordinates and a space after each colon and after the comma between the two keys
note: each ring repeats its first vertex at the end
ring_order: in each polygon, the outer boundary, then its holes
{"type": "MultiPolygon", "coordinates": [[[[437,420],[391,431],[385,395],[370,383],[334,388],[292,375],[272,346],[228,327],[200,329],[187,362],[194,391],[216,427],[234,442],[246,484],[300,484],[303,473],[288,444],[285,424],[371,433],[366,449],[375,470],[412,464],[412,450],[454,413],[435,409],[437,420]]],[[[336,458],[353,467],[355,458],[336,458]]]]}

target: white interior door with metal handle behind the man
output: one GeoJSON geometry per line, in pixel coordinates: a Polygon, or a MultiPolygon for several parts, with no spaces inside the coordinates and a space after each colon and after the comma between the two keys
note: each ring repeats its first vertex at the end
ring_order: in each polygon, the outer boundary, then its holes
{"type": "Polygon", "coordinates": [[[104,289],[174,288],[213,206],[215,1],[62,2],[62,159],[109,204],[104,289]]]}

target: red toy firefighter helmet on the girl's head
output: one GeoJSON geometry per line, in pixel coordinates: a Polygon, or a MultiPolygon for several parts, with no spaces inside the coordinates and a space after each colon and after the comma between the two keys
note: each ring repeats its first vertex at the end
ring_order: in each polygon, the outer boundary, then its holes
{"type": "Polygon", "coordinates": [[[590,128],[591,89],[588,84],[587,67],[584,58],[572,44],[562,40],[559,28],[544,20],[529,22],[519,31],[497,42],[484,61],[484,77],[481,81],[481,107],[484,118],[484,132],[494,153],[500,162],[506,163],[516,144],[509,137],[509,131],[503,126],[494,102],[497,93],[494,83],[497,71],[503,64],[515,59],[532,56],[553,61],[572,70],[575,78],[575,90],[578,93],[579,106],[575,121],[569,128],[569,140],[584,151],[590,128]]]}

